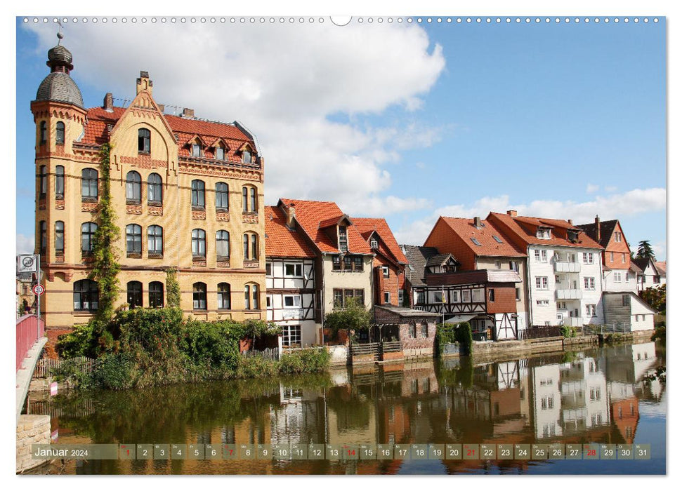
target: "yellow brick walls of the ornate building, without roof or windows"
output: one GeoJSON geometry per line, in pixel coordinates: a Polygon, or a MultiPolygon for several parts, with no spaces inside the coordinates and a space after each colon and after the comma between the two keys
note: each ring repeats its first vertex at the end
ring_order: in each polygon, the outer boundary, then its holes
{"type": "MultiPolygon", "coordinates": [[[[211,162],[178,156],[178,142],[168,121],[152,98],[150,81],[138,81],[136,98],[125,109],[117,122],[107,128],[111,152],[112,206],[117,213],[121,231],[117,241],[119,264],[118,304],[127,304],[129,281],[140,281],[143,286],[143,307],[149,306],[148,285],[159,281],[164,285],[166,304],[166,270],[177,269],[181,288],[181,308],[185,314],[200,319],[246,318],[265,319],[265,231],[263,213],[263,159],[260,166],[240,166],[228,161],[211,162]],[[145,83],[148,82],[148,83],[145,83]],[[146,87],[146,88],[145,88],[146,87]],[[138,152],[138,130],[150,130],[150,152],[138,152]],[[141,177],[141,200],[131,204],[126,200],[126,176],[130,171],[141,177]],[[147,203],[147,180],[152,173],[162,177],[162,206],[147,203]],[[202,180],[205,185],[205,209],[192,210],[192,180],[202,180]],[[216,183],[228,184],[229,212],[216,211],[216,183]],[[256,189],[257,210],[242,212],[242,187],[256,189]],[[126,226],[141,227],[142,253],[126,253],[126,226]],[[163,255],[155,257],[147,250],[147,227],[157,225],[163,229],[163,255]],[[205,260],[192,257],[192,229],[202,229],[206,234],[205,260]],[[216,231],[230,234],[229,261],[218,263],[216,257],[216,231]],[[258,238],[257,260],[244,260],[242,237],[245,233],[258,238]],[[194,283],[206,284],[206,309],[193,309],[194,283]],[[218,283],[229,283],[231,308],[218,309],[218,283]],[[245,309],[244,286],[258,288],[258,307],[245,309]]],[[[79,140],[86,128],[86,110],[76,105],[51,100],[34,101],[31,105],[36,123],[36,253],[41,253],[42,283],[46,288],[41,297],[41,311],[48,327],[70,327],[88,321],[93,312],[74,309],[74,283],[87,278],[88,257],[81,253],[81,225],[98,222],[96,203],[81,198],[81,173],[93,168],[100,177],[98,197],[102,196],[102,170],[99,163],[99,145],[83,144],[79,140]],[[48,132],[41,143],[41,122],[48,132]],[[63,144],[56,144],[58,121],[65,123],[63,144]],[[41,167],[46,169],[46,193],[41,196],[41,167]],[[57,166],[64,167],[64,195],[55,194],[57,166]],[[55,224],[64,223],[64,250],[55,250],[55,224]],[[46,223],[46,247],[41,252],[41,222],[46,223]]],[[[117,108],[120,109],[120,108],[117,108]]],[[[214,138],[215,140],[215,138],[214,138]]],[[[153,203],[152,203],[153,204],[153,203]]],[[[249,248],[251,248],[249,235],[249,248]]],[[[252,291],[252,290],[251,290],[252,291]]],[[[253,298],[253,295],[250,295],[253,298]]]]}

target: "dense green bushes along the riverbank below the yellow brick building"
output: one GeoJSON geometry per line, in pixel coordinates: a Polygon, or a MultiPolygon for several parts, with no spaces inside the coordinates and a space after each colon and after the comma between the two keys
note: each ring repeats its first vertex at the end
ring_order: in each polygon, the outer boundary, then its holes
{"type": "Polygon", "coordinates": [[[93,319],[59,337],[62,358],[96,358],[91,372],[68,364],[55,375],[81,388],[130,389],[209,379],[322,372],[326,350],[301,349],[279,360],[244,356],[244,343],[279,333],[263,321],[197,321],[176,307],[118,311],[111,321],[93,319]]]}

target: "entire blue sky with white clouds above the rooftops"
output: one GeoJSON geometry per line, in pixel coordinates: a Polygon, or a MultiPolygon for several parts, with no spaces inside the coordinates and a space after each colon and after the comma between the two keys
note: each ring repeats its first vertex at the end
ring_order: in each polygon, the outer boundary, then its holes
{"type": "MultiPolygon", "coordinates": [[[[594,18],[593,18],[594,19],[594,18]]],[[[17,21],[17,234],[31,247],[34,126],[55,28],[17,21]]],[[[268,203],[337,201],[421,243],[438,215],[618,218],[665,257],[665,22],[409,27],[74,25],[87,107],[131,98],[235,119],[258,137],[268,203]],[[140,41],[143,41],[140,46],[140,41]],[[200,48],[197,48],[200,47],[200,48]],[[201,55],[197,63],[193,57],[201,55]],[[218,60],[216,62],[216,60],[218,60]]]]}

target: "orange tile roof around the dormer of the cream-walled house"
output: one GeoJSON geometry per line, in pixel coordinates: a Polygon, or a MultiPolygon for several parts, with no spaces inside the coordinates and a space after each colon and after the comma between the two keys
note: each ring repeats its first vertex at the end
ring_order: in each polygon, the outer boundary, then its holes
{"type": "MultiPolygon", "coordinates": [[[[284,206],[293,204],[296,207],[296,222],[301,225],[303,231],[323,253],[341,253],[337,244],[320,228],[320,223],[327,222],[332,218],[339,218],[343,212],[330,201],[306,201],[300,199],[281,198],[280,203],[284,206]]],[[[360,235],[355,226],[350,225],[348,233],[348,252],[354,254],[372,254],[369,245],[360,235]]]]}

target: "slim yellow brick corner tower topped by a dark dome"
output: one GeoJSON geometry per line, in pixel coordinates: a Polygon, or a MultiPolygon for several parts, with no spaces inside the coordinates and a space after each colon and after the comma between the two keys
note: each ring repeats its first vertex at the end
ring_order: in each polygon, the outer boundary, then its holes
{"type": "Polygon", "coordinates": [[[79,264],[74,255],[79,241],[77,230],[68,225],[80,212],[80,175],[82,156],[74,143],[84,135],[86,109],[83,96],[70,76],[73,57],[61,45],[63,35],[57,34],[57,46],[48,51],[50,73],[41,82],[31,112],[36,124],[36,229],[35,252],[41,255],[41,269],[46,295],[46,311],[55,288],[70,288],[73,270],[79,264]],[[67,246],[65,247],[65,244],[67,246]],[[66,252],[66,254],[65,254],[66,252]],[[55,274],[58,273],[55,284],[55,274]]]}

